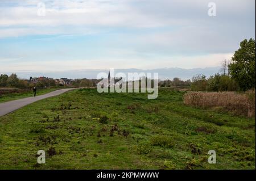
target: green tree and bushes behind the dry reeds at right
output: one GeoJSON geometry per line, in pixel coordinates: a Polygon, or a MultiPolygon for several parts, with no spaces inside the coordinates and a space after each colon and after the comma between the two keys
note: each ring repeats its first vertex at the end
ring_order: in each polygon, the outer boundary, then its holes
{"type": "Polygon", "coordinates": [[[195,75],[192,78],[192,91],[246,91],[255,89],[255,40],[243,40],[234,53],[230,64],[224,63],[223,74],[207,78],[195,75]],[[228,66],[228,75],[226,74],[228,66]]]}

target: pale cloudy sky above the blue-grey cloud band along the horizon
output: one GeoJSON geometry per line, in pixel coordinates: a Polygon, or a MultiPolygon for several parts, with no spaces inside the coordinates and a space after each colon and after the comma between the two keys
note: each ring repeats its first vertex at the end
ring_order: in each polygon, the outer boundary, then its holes
{"type": "Polygon", "coordinates": [[[0,0],[0,73],[214,67],[250,37],[255,0],[0,0]]]}

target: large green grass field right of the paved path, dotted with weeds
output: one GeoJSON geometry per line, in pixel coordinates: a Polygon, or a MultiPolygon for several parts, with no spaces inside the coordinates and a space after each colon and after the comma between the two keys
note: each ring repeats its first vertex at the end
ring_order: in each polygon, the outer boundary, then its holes
{"type": "Polygon", "coordinates": [[[0,169],[255,169],[255,119],[184,106],[183,94],[79,89],[30,104],[0,117],[0,169]]]}

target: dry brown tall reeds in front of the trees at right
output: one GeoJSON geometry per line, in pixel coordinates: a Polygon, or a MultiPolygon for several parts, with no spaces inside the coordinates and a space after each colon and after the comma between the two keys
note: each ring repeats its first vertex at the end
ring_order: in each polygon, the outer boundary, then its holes
{"type": "Polygon", "coordinates": [[[238,92],[187,92],[184,104],[200,108],[222,107],[236,115],[255,116],[255,90],[238,92]]]}

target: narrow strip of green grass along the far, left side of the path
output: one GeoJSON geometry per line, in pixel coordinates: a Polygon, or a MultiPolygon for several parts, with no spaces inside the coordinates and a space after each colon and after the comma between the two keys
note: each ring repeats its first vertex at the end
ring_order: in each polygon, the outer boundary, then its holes
{"type": "MultiPolygon", "coordinates": [[[[38,89],[36,91],[36,95],[43,95],[47,94],[49,92],[58,90],[60,88],[50,88],[50,89],[38,89]]],[[[10,100],[16,100],[16,99],[22,99],[22,98],[28,98],[34,96],[32,90],[24,91],[24,92],[18,92],[18,93],[11,93],[11,94],[4,94],[0,95],[0,103],[7,102],[10,100]]]]}

